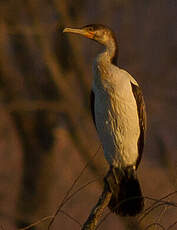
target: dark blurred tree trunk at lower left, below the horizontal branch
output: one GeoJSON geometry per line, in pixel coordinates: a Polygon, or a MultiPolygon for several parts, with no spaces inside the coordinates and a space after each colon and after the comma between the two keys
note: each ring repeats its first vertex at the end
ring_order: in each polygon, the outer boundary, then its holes
{"type": "Polygon", "coordinates": [[[24,172],[19,194],[18,227],[51,213],[50,191],[53,185],[53,127],[44,111],[12,114],[21,138],[24,172]]]}

